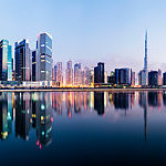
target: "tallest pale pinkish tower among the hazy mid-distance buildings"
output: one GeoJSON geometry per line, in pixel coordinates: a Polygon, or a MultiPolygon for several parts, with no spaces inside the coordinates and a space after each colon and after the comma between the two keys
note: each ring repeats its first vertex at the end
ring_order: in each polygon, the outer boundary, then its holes
{"type": "Polygon", "coordinates": [[[66,85],[72,85],[73,84],[72,61],[66,62],[65,83],[66,83],[66,85]]]}

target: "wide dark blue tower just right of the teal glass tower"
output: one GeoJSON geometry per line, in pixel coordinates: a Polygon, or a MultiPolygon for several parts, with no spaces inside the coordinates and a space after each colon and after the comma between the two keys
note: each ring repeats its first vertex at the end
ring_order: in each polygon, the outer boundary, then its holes
{"type": "Polygon", "coordinates": [[[15,81],[31,81],[31,64],[28,41],[15,42],[15,81]]]}

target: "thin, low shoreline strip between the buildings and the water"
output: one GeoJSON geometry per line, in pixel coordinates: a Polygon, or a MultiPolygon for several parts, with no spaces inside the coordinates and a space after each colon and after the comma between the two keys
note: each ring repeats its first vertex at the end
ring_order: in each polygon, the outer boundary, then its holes
{"type": "Polygon", "coordinates": [[[166,89],[0,89],[0,92],[129,92],[129,91],[166,91],[166,89]]]}

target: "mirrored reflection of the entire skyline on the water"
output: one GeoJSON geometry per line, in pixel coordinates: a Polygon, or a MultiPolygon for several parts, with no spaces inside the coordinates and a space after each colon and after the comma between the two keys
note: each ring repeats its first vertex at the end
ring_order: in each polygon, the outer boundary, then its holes
{"type": "MultiPolygon", "coordinates": [[[[52,143],[52,123],[58,116],[72,118],[75,115],[112,116],[122,112],[143,111],[144,139],[147,141],[148,107],[166,106],[166,92],[64,92],[64,93],[0,93],[0,139],[12,134],[30,139],[35,129],[39,148],[52,143]]],[[[120,116],[121,117],[121,116],[120,116]]],[[[127,117],[127,116],[126,116],[127,117]]],[[[97,118],[96,118],[97,121],[97,118]]]]}

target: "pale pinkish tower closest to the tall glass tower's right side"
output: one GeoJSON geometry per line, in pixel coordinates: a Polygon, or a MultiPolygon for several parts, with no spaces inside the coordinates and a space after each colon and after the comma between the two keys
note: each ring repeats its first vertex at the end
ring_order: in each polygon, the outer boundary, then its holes
{"type": "Polygon", "coordinates": [[[54,65],[54,80],[59,86],[63,84],[62,62],[54,65]]]}

